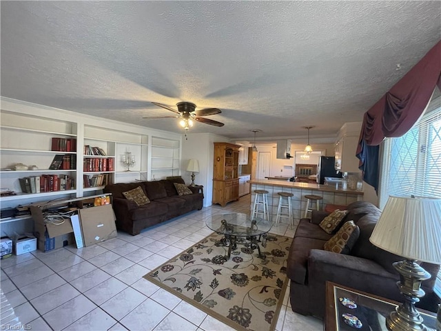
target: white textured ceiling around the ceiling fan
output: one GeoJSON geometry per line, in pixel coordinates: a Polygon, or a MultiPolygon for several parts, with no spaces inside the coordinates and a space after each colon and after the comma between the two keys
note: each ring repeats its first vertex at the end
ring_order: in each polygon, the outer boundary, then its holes
{"type": "Polygon", "coordinates": [[[1,95],[192,132],[335,136],[441,38],[440,1],[1,1],[1,95]],[[400,70],[396,65],[400,63],[400,70]]]}

